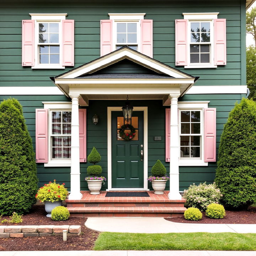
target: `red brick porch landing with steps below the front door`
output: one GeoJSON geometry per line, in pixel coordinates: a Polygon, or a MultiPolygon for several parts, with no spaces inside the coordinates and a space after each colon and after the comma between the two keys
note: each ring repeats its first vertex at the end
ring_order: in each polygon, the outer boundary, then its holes
{"type": "Polygon", "coordinates": [[[168,192],[156,195],[154,191],[148,191],[150,197],[105,197],[106,191],[101,191],[99,195],[81,191],[83,197],[80,200],[65,202],[71,216],[75,217],[177,217],[183,215],[186,210],[184,207],[186,200],[169,200],[168,192]]]}

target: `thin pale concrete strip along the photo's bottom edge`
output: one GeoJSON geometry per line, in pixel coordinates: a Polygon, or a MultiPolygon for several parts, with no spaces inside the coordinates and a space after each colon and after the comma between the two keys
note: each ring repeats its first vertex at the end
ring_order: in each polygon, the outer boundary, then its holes
{"type": "Polygon", "coordinates": [[[2,251],[1,256],[256,256],[255,251],[2,251]]]}

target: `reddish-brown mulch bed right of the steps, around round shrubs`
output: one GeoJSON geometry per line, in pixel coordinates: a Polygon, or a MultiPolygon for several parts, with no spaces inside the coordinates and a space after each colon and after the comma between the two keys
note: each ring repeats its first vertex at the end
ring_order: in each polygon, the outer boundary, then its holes
{"type": "Polygon", "coordinates": [[[230,211],[226,210],[226,216],[223,219],[210,219],[203,212],[203,218],[198,221],[186,220],[182,217],[165,218],[171,222],[180,223],[206,223],[206,224],[256,224],[256,207],[250,207],[248,211],[230,211]]]}

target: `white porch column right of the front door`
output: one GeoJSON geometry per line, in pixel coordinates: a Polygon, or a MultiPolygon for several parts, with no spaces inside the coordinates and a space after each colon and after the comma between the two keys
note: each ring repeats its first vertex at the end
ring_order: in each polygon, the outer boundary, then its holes
{"type": "Polygon", "coordinates": [[[170,94],[171,111],[170,111],[170,200],[181,199],[179,193],[179,154],[180,146],[178,139],[178,97],[179,95],[170,94]]]}

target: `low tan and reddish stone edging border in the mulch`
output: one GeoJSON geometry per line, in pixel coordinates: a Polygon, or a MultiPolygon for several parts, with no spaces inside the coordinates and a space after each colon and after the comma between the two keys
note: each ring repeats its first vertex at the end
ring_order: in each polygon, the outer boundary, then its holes
{"type": "Polygon", "coordinates": [[[68,230],[68,236],[79,236],[79,225],[31,225],[31,226],[0,226],[0,238],[23,238],[28,236],[63,235],[68,230]]]}

